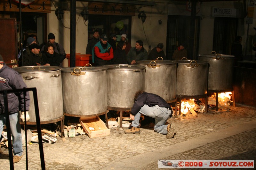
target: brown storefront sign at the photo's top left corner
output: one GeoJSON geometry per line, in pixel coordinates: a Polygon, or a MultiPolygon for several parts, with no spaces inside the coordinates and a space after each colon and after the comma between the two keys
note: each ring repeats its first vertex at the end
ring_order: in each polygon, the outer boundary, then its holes
{"type": "MultiPolygon", "coordinates": [[[[1,0],[0,11],[19,12],[19,0],[1,0]]],[[[22,12],[51,12],[50,0],[21,0],[22,12]]]]}

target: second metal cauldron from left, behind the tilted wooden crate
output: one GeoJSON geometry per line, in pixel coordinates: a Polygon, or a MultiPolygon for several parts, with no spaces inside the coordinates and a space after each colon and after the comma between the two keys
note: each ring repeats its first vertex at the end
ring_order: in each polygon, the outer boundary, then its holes
{"type": "Polygon", "coordinates": [[[63,68],[61,76],[65,115],[86,117],[107,113],[106,68],[63,68]]]}

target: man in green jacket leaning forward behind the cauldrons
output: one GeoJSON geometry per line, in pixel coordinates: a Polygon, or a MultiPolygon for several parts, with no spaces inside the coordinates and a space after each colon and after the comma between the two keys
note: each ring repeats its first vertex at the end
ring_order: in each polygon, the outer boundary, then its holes
{"type": "Polygon", "coordinates": [[[143,42],[141,40],[136,41],[135,47],[130,49],[126,59],[128,64],[136,64],[136,61],[148,59],[148,51],[143,48],[143,42]]]}

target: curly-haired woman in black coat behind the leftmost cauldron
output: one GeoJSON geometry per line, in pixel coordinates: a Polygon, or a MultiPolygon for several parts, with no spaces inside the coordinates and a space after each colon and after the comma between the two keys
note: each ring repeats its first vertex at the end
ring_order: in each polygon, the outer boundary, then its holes
{"type": "Polygon", "coordinates": [[[46,44],[44,46],[43,61],[45,65],[60,66],[60,54],[54,51],[52,44],[46,44]]]}

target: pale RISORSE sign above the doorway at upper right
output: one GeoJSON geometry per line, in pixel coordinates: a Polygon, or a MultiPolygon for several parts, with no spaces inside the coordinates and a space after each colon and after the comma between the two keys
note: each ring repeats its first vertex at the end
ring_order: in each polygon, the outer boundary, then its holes
{"type": "Polygon", "coordinates": [[[213,17],[238,17],[238,9],[236,8],[219,8],[212,7],[212,16],[213,17]]]}

